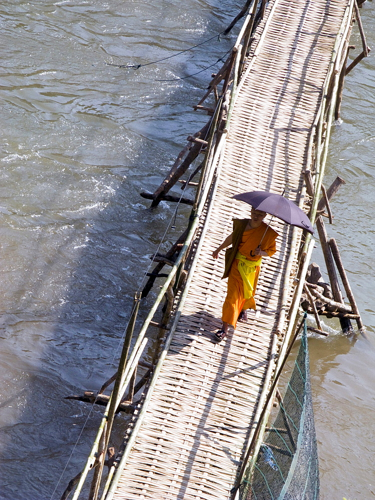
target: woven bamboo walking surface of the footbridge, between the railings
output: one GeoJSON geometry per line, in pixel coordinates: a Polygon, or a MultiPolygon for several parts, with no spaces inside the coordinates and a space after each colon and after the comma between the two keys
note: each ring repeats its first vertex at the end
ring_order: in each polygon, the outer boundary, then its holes
{"type": "Polygon", "coordinates": [[[278,252],[263,258],[257,311],[221,343],[212,334],[220,326],[225,296],[224,252],[217,261],[211,252],[230,233],[232,218],[249,214],[249,207],[230,199],[233,194],[285,188],[285,195],[299,199],[308,133],[346,4],[276,0],[267,7],[271,14],[262,21],[265,29],[257,30],[255,55],[238,87],[182,315],[135,444],[106,498],[224,500],[229,495],[273,363],[271,339],[291,230],[272,221],[280,234],[278,252]]]}

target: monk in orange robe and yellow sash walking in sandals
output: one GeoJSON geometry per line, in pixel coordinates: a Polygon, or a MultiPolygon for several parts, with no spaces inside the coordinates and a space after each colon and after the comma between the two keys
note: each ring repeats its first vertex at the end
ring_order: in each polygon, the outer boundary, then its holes
{"type": "Polygon", "coordinates": [[[236,327],[237,321],[247,322],[246,309],[256,309],[254,294],[258,281],[261,257],[270,257],[276,251],[278,234],[263,222],[266,212],[251,207],[250,219],[233,219],[233,232],[212,252],[230,244],[225,253],[223,278],[228,278],[228,289],[222,306],[222,326],[216,331],[217,340],[225,338],[228,325],[236,327]]]}

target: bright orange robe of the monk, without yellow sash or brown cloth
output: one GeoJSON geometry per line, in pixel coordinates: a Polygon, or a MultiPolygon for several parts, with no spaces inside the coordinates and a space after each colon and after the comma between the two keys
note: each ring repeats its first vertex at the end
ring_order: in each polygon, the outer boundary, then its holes
{"type": "MultiPolygon", "coordinates": [[[[278,236],[277,232],[274,231],[267,224],[262,222],[259,227],[254,229],[249,229],[243,232],[241,242],[238,245],[238,251],[242,253],[248,260],[259,260],[259,255],[250,255],[251,250],[255,250],[261,242],[261,249],[267,252],[270,257],[276,251],[275,239],[278,236]],[[266,230],[265,234],[264,231],[266,230]],[[264,234],[264,236],[263,236],[264,234]]],[[[224,304],[222,306],[222,320],[228,324],[232,324],[234,328],[237,324],[238,314],[244,309],[256,309],[254,294],[256,291],[256,285],[258,282],[258,276],[260,271],[260,265],[256,266],[255,273],[251,276],[253,279],[253,289],[250,298],[244,298],[243,293],[243,280],[238,271],[239,260],[235,258],[230,267],[228,275],[228,289],[225,297],[224,304]]]]}

